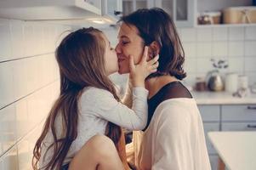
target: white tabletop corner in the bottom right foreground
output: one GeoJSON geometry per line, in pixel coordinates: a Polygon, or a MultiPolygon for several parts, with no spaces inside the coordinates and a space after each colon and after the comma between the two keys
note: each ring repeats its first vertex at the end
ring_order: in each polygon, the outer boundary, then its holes
{"type": "Polygon", "coordinates": [[[256,169],[256,132],[210,132],[208,136],[229,170],[256,169]]]}

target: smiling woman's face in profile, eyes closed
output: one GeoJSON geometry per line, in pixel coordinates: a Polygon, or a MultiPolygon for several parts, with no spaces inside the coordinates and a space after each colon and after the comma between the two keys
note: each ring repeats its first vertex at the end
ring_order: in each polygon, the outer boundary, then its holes
{"type": "Polygon", "coordinates": [[[139,31],[135,26],[122,23],[118,33],[118,43],[116,47],[119,74],[129,72],[129,55],[134,56],[134,63],[138,64],[143,54],[144,42],[139,37],[139,31]]]}

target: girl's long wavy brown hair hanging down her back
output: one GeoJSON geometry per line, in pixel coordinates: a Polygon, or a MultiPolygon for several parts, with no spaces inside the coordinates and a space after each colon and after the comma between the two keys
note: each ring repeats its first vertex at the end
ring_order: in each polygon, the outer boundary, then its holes
{"type": "MultiPolygon", "coordinates": [[[[49,112],[43,133],[37,139],[33,150],[33,169],[38,169],[43,139],[48,132],[52,133],[54,139],[48,150],[52,149],[54,153],[51,160],[42,168],[60,169],[72,142],[77,138],[78,101],[83,88],[92,86],[108,90],[120,101],[114,84],[105,74],[105,47],[103,33],[92,27],[71,32],[60,42],[55,52],[60,67],[60,96],[49,112]],[[61,137],[57,135],[55,127],[59,114],[63,127],[61,137]]],[[[118,142],[122,135],[121,127],[109,122],[105,134],[113,140],[118,150],[118,142]]]]}

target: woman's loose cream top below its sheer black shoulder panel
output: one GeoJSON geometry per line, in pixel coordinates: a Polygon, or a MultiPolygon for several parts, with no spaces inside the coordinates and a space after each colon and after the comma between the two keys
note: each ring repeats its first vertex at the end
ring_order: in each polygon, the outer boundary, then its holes
{"type": "Polygon", "coordinates": [[[135,161],[141,170],[211,169],[195,99],[163,101],[145,133],[138,135],[142,140],[135,161]]]}

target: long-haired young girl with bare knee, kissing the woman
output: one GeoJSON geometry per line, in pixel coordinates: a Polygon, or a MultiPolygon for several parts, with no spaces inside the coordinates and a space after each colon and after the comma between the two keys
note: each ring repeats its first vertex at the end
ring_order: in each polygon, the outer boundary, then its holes
{"type": "Polygon", "coordinates": [[[143,129],[147,122],[145,77],[157,57],[138,65],[130,57],[133,110],[122,105],[109,75],[118,71],[117,54],[103,32],[92,27],[71,32],[56,49],[60,97],[34,148],[34,169],[123,169],[121,127],[143,129]],[[107,137],[106,137],[107,136],[107,137]]]}

